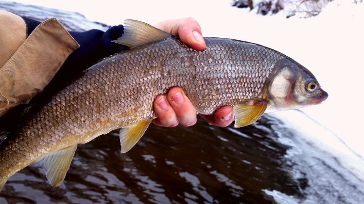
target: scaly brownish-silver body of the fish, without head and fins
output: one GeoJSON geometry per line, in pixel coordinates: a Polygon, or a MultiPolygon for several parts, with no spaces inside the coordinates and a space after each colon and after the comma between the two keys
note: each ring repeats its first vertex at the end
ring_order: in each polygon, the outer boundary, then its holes
{"type": "Polygon", "coordinates": [[[205,41],[207,48],[196,51],[177,38],[166,38],[90,67],[2,142],[0,187],[11,175],[51,153],[154,119],[154,98],[171,87],[181,87],[198,113],[212,114],[224,105],[272,102],[270,77],[282,68],[277,62],[295,64],[256,44],[224,38],[205,41]]]}

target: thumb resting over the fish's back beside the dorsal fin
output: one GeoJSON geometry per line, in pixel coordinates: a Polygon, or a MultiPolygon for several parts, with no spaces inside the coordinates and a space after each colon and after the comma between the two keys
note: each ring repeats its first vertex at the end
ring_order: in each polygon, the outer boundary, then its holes
{"type": "Polygon", "coordinates": [[[156,24],[156,28],[179,37],[183,43],[193,49],[203,50],[206,48],[201,27],[193,18],[162,21],[156,24]]]}

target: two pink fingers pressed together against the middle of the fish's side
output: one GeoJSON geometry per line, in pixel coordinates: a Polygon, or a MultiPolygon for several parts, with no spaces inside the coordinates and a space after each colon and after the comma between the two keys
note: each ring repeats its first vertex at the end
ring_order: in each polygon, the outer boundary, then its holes
{"type": "Polygon", "coordinates": [[[197,121],[196,110],[181,88],[172,88],[167,97],[156,97],[154,110],[158,118],[153,122],[158,126],[193,126],[197,121]]]}

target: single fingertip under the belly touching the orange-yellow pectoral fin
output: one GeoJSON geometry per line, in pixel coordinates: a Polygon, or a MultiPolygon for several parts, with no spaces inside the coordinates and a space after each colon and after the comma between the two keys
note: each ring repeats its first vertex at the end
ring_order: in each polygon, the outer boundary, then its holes
{"type": "Polygon", "coordinates": [[[224,106],[216,110],[213,115],[201,115],[209,124],[219,127],[226,127],[234,120],[231,106],[224,106]]]}

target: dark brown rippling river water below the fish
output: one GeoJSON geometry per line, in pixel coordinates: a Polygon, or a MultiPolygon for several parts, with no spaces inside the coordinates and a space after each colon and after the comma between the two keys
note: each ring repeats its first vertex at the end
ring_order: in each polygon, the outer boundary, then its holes
{"type": "MultiPolygon", "coordinates": [[[[259,124],[268,126],[264,117],[259,124]]],[[[300,195],[282,170],[286,148],[254,126],[151,126],[130,152],[120,154],[118,132],[79,145],[65,182],[52,188],[40,168],[14,175],[1,196],[8,202],[261,203],[261,189],[300,195]]],[[[268,129],[267,129],[268,130],[268,129]]]]}

